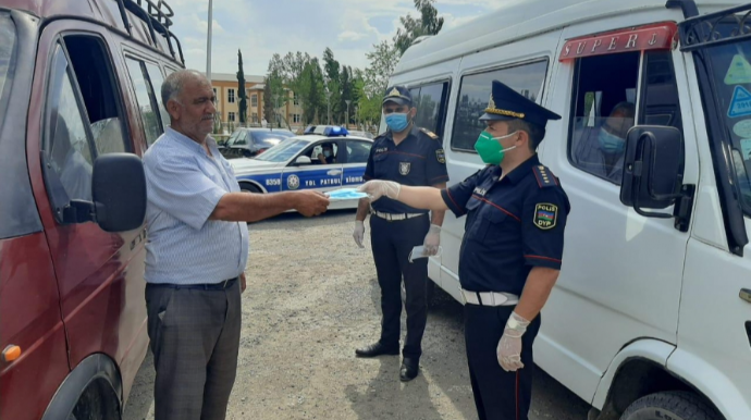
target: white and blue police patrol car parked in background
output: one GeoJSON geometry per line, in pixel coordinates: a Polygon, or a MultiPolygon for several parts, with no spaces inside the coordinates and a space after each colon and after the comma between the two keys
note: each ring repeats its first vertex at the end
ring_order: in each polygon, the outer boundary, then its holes
{"type": "MultiPolygon", "coordinates": [[[[309,126],[303,135],[282,140],[253,159],[233,159],[239,187],[245,193],[315,189],[321,193],[364,183],[362,175],[373,140],[350,136],[340,126],[309,126]],[[324,162],[324,147],[333,150],[324,162]]],[[[357,200],[332,201],[330,209],[357,208],[357,200]]]]}

